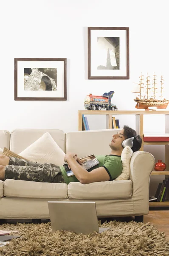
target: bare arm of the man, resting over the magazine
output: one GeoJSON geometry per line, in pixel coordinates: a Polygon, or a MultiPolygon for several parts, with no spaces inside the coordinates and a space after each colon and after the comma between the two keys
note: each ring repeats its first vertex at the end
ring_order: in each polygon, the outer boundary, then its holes
{"type": "Polygon", "coordinates": [[[110,180],[110,176],[104,167],[99,167],[91,172],[87,172],[87,170],[79,165],[79,158],[74,153],[66,154],[65,161],[68,162],[73,174],[82,184],[110,180]]]}

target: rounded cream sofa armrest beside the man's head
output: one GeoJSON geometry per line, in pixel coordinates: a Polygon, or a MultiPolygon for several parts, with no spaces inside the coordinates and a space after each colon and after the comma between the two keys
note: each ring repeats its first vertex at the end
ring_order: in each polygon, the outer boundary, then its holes
{"type": "MultiPolygon", "coordinates": [[[[152,154],[137,151],[132,154],[130,160],[130,180],[132,180],[132,199],[135,204],[147,206],[149,211],[149,180],[155,166],[155,158],[152,154]]],[[[134,207],[135,208],[135,207],[134,207]]]]}

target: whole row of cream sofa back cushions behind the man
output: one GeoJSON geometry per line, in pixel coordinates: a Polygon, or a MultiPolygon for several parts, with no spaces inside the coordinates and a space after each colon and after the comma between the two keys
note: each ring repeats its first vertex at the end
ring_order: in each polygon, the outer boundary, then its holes
{"type": "Polygon", "coordinates": [[[75,131],[65,134],[57,129],[15,129],[11,131],[0,130],[0,148],[10,148],[20,154],[25,148],[38,140],[45,132],[49,132],[54,141],[64,152],[75,152],[79,157],[88,154],[110,154],[113,134],[121,129],[105,129],[94,131],[75,131]]]}

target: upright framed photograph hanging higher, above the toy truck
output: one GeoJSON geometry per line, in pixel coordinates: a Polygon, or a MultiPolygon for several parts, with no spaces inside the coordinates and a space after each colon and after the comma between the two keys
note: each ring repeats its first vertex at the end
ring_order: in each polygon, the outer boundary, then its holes
{"type": "Polygon", "coordinates": [[[88,79],[129,79],[129,28],[88,27],[88,79]]]}

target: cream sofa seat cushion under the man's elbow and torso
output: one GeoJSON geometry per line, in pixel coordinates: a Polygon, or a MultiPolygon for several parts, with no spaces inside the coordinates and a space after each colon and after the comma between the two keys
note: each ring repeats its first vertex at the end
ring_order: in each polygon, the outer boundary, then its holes
{"type": "Polygon", "coordinates": [[[81,184],[68,184],[68,198],[73,199],[119,199],[132,196],[131,180],[113,180],[81,184]]]}

